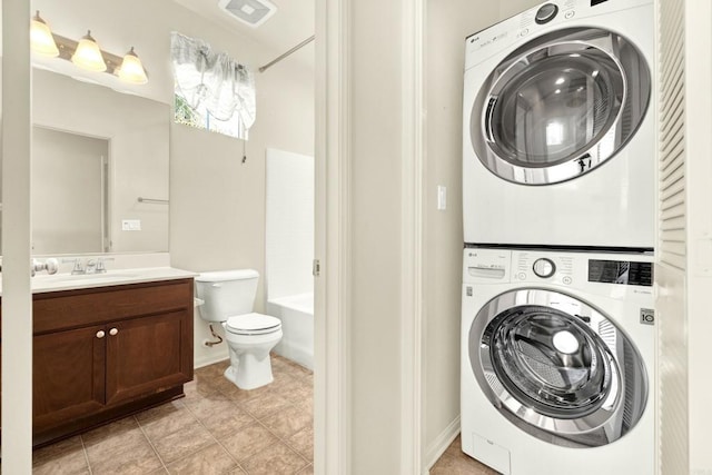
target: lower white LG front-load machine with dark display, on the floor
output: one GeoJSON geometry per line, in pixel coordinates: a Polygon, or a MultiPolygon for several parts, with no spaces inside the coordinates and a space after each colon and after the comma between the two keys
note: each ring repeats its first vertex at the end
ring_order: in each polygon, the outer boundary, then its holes
{"type": "Polygon", "coordinates": [[[653,257],[466,248],[462,448],[506,475],[655,473],[653,257]]]}

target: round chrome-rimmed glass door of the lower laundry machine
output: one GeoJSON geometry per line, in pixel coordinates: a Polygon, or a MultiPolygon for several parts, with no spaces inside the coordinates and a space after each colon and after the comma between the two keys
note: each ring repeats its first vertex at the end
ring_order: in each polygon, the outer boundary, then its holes
{"type": "Polygon", "coordinates": [[[469,362],[510,422],[552,444],[610,444],[640,420],[647,375],[615,323],[580,299],[523,288],[490,300],[469,330],[469,362]]]}

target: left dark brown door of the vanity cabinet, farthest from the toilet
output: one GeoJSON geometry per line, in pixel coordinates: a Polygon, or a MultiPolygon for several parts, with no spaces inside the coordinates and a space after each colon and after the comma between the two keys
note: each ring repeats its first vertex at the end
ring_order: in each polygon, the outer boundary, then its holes
{"type": "Polygon", "coordinates": [[[103,326],[36,335],[32,424],[36,431],[99,410],[105,398],[103,326]]]}

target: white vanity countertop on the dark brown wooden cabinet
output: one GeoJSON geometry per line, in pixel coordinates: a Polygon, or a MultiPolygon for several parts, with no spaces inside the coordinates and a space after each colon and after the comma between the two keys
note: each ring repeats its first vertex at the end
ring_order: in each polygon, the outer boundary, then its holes
{"type": "MultiPolygon", "coordinates": [[[[80,288],[109,287],[157,280],[176,280],[196,277],[198,274],[174,267],[142,267],[132,269],[109,269],[106,274],[38,274],[32,277],[32,294],[80,288]]],[[[0,277],[0,289],[2,278],[0,277]]],[[[1,295],[1,291],[0,291],[1,295]]]]}

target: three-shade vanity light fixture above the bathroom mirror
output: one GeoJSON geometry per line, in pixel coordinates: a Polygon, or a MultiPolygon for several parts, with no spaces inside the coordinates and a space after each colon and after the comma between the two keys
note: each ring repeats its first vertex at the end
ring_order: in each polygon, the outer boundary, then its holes
{"type": "Polygon", "coordinates": [[[78,42],[50,31],[49,26],[37,11],[30,27],[32,51],[48,57],[59,57],[78,67],[96,72],[108,72],[125,82],[145,85],[148,75],[134,47],[121,58],[102,51],[97,41],[87,31],[78,42]]]}

